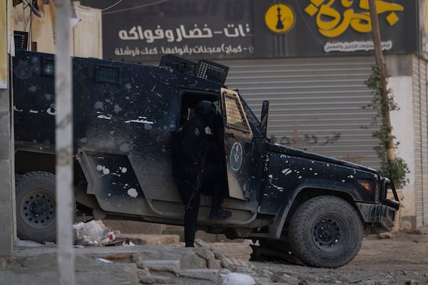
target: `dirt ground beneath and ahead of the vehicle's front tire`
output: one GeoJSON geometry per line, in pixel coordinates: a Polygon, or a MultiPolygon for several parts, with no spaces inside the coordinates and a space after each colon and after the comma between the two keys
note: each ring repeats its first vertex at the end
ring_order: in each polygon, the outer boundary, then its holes
{"type": "MultiPolygon", "coordinates": [[[[278,262],[251,263],[260,276],[265,275],[271,280],[282,276],[277,281],[288,280],[286,284],[428,284],[427,232],[396,232],[389,237],[365,237],[357,257],[340,269],[317,269],[278,262]]],[[[216,242],[210,245],[235,259],[248,260],[251,253],[245,243],[216,242]]]]}

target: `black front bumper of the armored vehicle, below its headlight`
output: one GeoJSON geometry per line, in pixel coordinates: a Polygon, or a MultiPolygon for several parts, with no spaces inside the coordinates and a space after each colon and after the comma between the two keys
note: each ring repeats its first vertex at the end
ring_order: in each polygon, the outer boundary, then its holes
{"type": "Polygon", "coordinates": [[[397,209],[382,204],[355,203],[364,222],[379,224],[388,232],[394,227],[397,209]]]}

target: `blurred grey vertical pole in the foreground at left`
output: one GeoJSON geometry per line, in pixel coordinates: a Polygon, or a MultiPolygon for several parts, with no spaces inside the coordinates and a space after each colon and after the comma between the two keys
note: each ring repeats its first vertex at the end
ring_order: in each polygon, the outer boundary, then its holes
{"type": "Polygon", "coordinates": [[[70,1],[56,0],[56,241],[58,284],[75,284],[73,252],[73,113],[69,47],[70,1]]]}

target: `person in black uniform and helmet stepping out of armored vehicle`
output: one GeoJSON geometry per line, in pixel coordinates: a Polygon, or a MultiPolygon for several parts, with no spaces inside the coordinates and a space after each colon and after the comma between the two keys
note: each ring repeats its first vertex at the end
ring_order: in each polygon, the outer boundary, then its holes
{"type": "Polygon", "coordinates": [[[203,100],[179,132],[174,142],[173,177],[185,206],[185,247],[194,247],[201,191],[213,198],[210,219],[227,219],[232,215],[220,207],[227,190],[223,120],[215,105],[203,100]],[[198,179],[200,189],[195,189],[198,179]]]}

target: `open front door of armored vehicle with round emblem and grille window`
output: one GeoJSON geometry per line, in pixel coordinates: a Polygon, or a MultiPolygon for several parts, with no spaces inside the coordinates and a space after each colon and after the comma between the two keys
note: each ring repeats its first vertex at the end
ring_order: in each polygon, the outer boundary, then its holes
{"type": "Polygon", "coordinates": [[[253,132],[238,92],[221,88],[229,196],[250,198],[253,132]]]}

